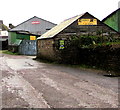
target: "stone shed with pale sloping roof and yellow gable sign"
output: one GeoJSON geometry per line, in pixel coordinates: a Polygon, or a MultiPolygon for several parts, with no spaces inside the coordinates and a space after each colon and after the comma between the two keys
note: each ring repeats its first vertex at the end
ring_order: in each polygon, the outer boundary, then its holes
{"type": "MultiPolygon", "coordinates": [[[[37,38],[37,58],[45,58],[53,61],[78,60],[79,53],[75,50],[75,39],[82,38],[80,48],[94,46],[98,42],[107,42],[118,39],[117,31],[107,26],[88,12],[66,19],[37,38]],[[94,39],[87,44],[88,39],[94,39]],[[96,40],[97,39],[97,40],[96,40]],[[87,40],[87,41],[86,41],[87,40]]],[[[79,45],[80,46],[80,45],[79,45]]]]}

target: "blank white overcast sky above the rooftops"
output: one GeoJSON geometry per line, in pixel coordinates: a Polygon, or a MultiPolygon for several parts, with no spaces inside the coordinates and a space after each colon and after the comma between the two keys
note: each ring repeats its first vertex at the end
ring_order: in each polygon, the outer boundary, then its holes
{"type": "Polygon", "coordinates": [[[102,20],[118,9],[120,0],[1,0],[4,24],[18,25],[33,16],[59,24],[64,19],[89,12],[102,20]]]}

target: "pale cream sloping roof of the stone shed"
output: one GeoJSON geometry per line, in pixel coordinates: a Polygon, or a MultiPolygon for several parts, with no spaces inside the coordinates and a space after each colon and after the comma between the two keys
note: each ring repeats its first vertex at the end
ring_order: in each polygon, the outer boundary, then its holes
{"type": "Polygon", "coordinates": [[[52,37],[54,37],[55,35],[57,35],[58,33],[60,33],[62,30],[64,30],[66,27],[68,27],[69,25],[71,25],[74,21],[76,21],[78,18],[80,18],[83,15],[84,14],[77,15],[75,17],[72,17],[70,19],[67,19],[67,20],[61,22],[59,25],[53,27],[51,30],[49,30],[48,32],[46,32],[42,36],[38,37],[37,39],[46,39],[46,38],[52,38],[52,37]]]}

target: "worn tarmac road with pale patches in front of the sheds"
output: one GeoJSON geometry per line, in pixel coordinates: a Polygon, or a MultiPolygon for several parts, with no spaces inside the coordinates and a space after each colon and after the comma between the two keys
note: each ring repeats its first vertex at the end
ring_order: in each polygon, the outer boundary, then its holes
{"type": "Polygon", "coordinates": [[[117,108],[118,78],[3,54],[2,108],[117,108]]]}

